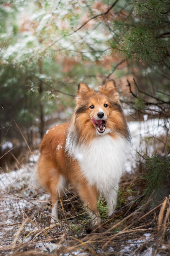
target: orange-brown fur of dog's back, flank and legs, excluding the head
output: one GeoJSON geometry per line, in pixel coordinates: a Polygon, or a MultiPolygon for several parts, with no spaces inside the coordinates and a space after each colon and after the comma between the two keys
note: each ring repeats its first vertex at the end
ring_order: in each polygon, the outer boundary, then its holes
{"type": "Polygon", "coordinates": [[[95,187],[87,184],[82,177],[77,160],[65,154],[65,143],[67,138],[68,124],[61,124],[55,129],[51,128],[45,135],[40,146],[40,157],[38,162],[39,182],[51,194],[52,208],[59,199],[57,185],[60,176],[64,175],[71,184],[77,188],[80,198],[90,210],[96,210],[98,194],[95,187]],[[56,149],[57,145],[62,145],[56,149]],[[89,200],[90,199],[90,200],[89,200]]]}

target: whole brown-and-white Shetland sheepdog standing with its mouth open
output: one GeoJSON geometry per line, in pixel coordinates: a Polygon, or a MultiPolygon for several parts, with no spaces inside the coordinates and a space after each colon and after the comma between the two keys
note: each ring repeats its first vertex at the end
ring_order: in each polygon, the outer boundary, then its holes
{"type": "Polygon", "coordinates": [[[70,123],[46,132],[40,146],[39,183],[51,195],[52,215],[67,184],[77,189],[92,222],[100,223],[99,195],[105,197],[108,215],[117,204],[117,190],[131,137],[114,80],[95,92],[79,83],[70,123]]]}

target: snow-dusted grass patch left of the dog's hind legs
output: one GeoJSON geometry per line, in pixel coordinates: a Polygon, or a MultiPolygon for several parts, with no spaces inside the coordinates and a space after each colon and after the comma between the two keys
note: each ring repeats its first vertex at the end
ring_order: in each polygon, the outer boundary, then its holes
{"type": "MultiPolygon", "coordinates": [[[[36,163],[33,167],[33,159],[34,161],[38,160],[38,155],[30,157],[30,163],[23,168],[0,174],[0,252],[4,246],[12,245],[15,237],[17,237],[17,241],[23,240],[20,237],[23,230],[24,242],[27,243],[32,239],[32,236],[28,236],[28,234],[41,229],[36,222],[26,223],[25,221],[30,212],[35,215],[34,218],[36,215],[38,218],[42,202],[48,201],[48,195],[39,193],[38,188],[35,187],[36,163]],[[32,210],[33,208],[36,209],[36,212],[32,210]]],[[[46,244],[41,248],[44,250],[46,244]]]]}

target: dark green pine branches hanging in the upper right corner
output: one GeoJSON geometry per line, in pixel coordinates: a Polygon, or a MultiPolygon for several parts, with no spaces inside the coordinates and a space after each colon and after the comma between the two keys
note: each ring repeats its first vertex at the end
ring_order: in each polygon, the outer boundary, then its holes
{"type": "MultiPolygon", "coordinates": [[[[119,4],[121,15],[115,17],[112,26],[109,25],[113,31],[109,40],[113,53],[127,61],[129,72],[134,75],[140,89],[167,100],[170,79],[169,1],[120,1],[119,4]]],[[[146,95],[142,97],[151,100],[146,95]]]]}

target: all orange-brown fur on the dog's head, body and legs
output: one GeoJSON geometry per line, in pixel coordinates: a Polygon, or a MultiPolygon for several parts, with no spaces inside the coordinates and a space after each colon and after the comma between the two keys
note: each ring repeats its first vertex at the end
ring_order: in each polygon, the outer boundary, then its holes
{"type": "Polygon", "coordinates": [[[45,134],[40,146],[38,174],[41,186],[51,194],[52,208],[60,196],[60,193],[57,193],[57,186],[62,175],[77,188],[84,204],[98,215],[96,187],[88,184],[81,172],[78,160],[73,159],[65,151],[68,128],[70,127],[71,137],[76,143],[88,144],[99,136],[91,122],[91,116],[97,116],[98,108],[108,104],[108,108],[103,108],[103,111],[109,117],[107,119],[107,128],[111,130],[109,135],[114,138],[119,132],[123,137],[127,137],[128,128],[119,103],[119,95],[113,80],[99,87],[98,93],[86,84],[79,83],[76,107],[70,124],[55,126],[45,134]],[[98,108],[90,109],[90,105],[98,106],[98,108]]]}

